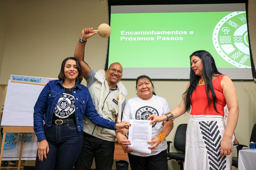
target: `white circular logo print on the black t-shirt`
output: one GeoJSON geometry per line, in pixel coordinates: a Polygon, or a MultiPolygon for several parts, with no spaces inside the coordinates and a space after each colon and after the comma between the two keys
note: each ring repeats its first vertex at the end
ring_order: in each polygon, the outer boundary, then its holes
{"type": "Polygon", "coordinates": [[[70,94],[63,93],[54,109],[55,116],[67,118],[75,112],[75,99],[70,94]]]}

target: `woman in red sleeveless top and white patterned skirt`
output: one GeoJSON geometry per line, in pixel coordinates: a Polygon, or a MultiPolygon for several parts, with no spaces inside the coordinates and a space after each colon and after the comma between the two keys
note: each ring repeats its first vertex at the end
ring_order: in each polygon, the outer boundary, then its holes
{"type": "Polygon", "coordinates": [[[190,83],[180,104],[171,112],[151,115],[153,122],[168,121],[191,110],[187,133],[184,169],[230,170],[232,135],[238,120],[236,89],[227,75],[218,72],[212,55],[204,50],[190,55],[190,83]],[[224,122],[224,106],[229,116],[224,122]]]}

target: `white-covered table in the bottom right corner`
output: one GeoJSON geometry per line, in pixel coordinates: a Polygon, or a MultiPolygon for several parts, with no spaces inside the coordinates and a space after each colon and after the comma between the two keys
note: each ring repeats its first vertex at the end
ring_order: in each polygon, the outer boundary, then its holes
{"type": "Polygon", "coordinates": [[[256,149],[239,151],[238,170],[256,170],[256,149]]]}

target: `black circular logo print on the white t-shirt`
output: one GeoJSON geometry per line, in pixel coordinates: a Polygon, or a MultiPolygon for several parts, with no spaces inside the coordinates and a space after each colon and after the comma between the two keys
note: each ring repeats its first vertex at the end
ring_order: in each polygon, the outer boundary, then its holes
{"type": "MultiPolygon", "coordinates": [[[[148,117],[152,114],[155,114],[159,116],[158,111],[155,108],[152,108],[150,106],[144,106],[139,108],[135,113],[135,119],[136,120],[147,120],[148,117]]],[[[152,126],[152,128],[156,125],[156,122],[152,126]]]]}

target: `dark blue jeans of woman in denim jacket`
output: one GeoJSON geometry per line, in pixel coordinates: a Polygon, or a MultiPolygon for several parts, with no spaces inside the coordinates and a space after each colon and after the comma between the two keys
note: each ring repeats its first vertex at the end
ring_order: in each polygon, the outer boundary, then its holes
{"type": "Polygon", "coordinates": [[[44,126],[49,144],[47,159],[36,158],[35,170],[72,170],[83,144],[83,131],[78,131],[76,123],[44,126]]]}

